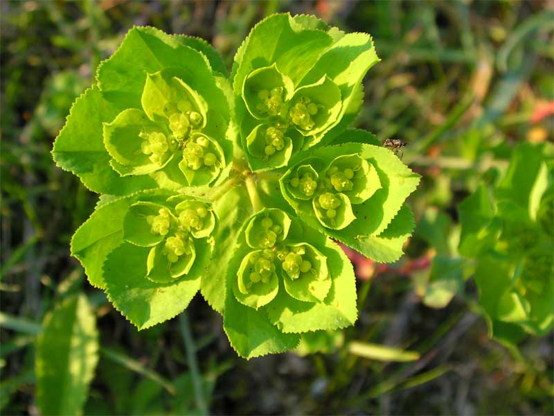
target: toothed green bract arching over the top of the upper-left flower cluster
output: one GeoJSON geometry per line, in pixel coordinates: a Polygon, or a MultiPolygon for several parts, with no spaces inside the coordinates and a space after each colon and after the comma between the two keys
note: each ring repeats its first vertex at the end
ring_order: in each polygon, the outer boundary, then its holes
{"type": "MultiPolygon", "coordinates": [[[[98,67],[98,86],[104,96],[117,102],[122,109],[141,108],[148,73],[162,69],[175,71],[180,80],[208,103],[207,123],[202,132],[220,143],[230,161],[234,131],[228,128],[231,125],[231,87],[227,80],[213,73],[204,51],[185,46],[182,41],[156,28],[132,28],[114,55],[98,67]]],[[[184,43],[192,43],[195,48],[199,46],[197,42],[184,43]]]]}

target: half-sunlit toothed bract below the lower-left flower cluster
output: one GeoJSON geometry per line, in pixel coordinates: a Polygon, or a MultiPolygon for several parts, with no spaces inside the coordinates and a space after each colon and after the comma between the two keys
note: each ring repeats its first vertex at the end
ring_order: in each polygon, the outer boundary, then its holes
{"type": "Polygon", "coordinates": [[[150,248],[123,243],[104,263],[109,300],[138,329],[170,320],[186,309],[200,287],[200,276],[211,254],[204,244],[187,275],[161,284],[146,278],[148,252],[150,248]]]}

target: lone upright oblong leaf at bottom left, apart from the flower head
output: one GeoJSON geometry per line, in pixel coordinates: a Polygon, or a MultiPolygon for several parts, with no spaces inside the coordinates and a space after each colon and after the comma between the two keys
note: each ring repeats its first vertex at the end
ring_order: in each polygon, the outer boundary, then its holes
{"type": "Polygon", "coordinates": [[[70,297],[44,317],[37,339],[37,405],[42,415],[80,415],[98,362],[96,319],[87,297],[70,297]]]}

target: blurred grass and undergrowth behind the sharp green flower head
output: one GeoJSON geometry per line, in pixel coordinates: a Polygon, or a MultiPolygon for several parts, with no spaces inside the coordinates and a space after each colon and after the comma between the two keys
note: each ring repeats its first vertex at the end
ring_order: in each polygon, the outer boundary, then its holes
{"type": "Polygon", "coordinates": [[[47,311],[80,291],[100,334],[85,414],[203,407],[214,414],[553,414],[552,334],[524,340],[519,349],[491,340],[472,281],[443,308],[422,302],[438,251],[427,238],[429,218],[440,213],[443,226],[455,228],[456,206],[481,180],[494,180],[496,168],[506,168],[517,144],[553,141],[552,1],[1,0],[0,6],[2,414],[39,412],[35,335],[47,311]],[[98,62],[132,26],[203,37],[230,68],[253,24],[281,11],[373,35],[382,62],[366,77],[355,124],[408,144],[403,160],[422,175],[409,199],[418,229],[393,265],[350,253],[359,320],[341,333],[314,336],[311,347],[323,352],[244,361],[229,346],[220,315],[199,296],[186,320],[137,332],[89,286],[69,256],[69,239],[98,196],[56,168],[50,150],[98,62]],[[189,322],[192,360],[184,345],[189,322]],[[388,361],[368,352],[367,343],[418,354],[388,361]],[[195,367],[199,374],[190,372],[195,367]]]}

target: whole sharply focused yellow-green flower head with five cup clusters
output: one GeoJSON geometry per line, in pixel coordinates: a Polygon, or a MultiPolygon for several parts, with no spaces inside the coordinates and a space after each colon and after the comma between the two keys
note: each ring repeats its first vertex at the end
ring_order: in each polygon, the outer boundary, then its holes
{"type": "Polygon", "coordinates": [[[139,329],[200,291],[246,358],[353,324],[355,276],[332,239],[397,260],[419,180],[347,128],[377,61],[369,35],[278,14],[227,78],[202,40],[132,28],[53,148],[102,194],[71,241],[91,284],[139,329]]]}

